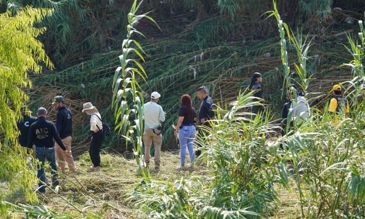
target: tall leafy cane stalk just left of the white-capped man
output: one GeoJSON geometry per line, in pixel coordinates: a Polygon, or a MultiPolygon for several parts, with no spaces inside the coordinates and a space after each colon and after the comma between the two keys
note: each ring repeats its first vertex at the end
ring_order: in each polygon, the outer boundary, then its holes
{"type": "Polygon", "coordinates": [[[121,46],[120,66],[115,70],[112,88],[112,110],[114,110],[115,116],[115,129],[122,133],[126,145],[131,144],[133,146],[138,172],[143,167],[143,94],[137,76],[145,81],[147,74],[137,59],[130,58],[131,53],[134,53],[137,58],[144,62],[141,54],[144,53],[142,47],[131,37],[133,33],[144,36],[134,27],[140,19],[147,18],[156,24],[153,18],[146,15],[148,12],[140,15],[136,14],[141,3],[142,1],[137,4],[137,0],[134,0],[128,13],[127,34],[121,46]],[[132,48],[132,45],[136,48],[132,48]]]}

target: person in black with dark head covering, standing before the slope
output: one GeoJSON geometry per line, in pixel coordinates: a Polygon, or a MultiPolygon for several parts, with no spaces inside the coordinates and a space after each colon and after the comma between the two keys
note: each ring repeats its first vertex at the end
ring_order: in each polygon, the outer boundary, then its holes
{"type": "MultiPolygon", "coordinates": [[[[252,101],[257,101],[257,102],[263,101],[263,89],[261,83],[262,83],[261,74],[258,72],[253,73],[251,83],[248,87],[248,91],[255,91],[253,93],[253,96],[256,98],[254,98],[252,101]]],[[[252,115],[252,119],[254,119],[258,113],[262,113],[262,111],[263,111],[262,105],[252,106],[251,112],[254,114],[252,115]]]]}

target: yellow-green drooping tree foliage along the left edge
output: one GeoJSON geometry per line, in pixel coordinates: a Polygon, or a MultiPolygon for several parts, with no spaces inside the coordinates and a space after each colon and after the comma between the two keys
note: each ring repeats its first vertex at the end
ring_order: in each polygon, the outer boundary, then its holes
{"type": "Polygon", "coordinates": [[[34,28],[51,10],[33,10],[25,7],[16,16],[10,12],[0,14],[0,181],[1,187],[8,188],[0,193],[0,215],[6,216],[5,197],[21,191],[28,202],[36,202],[31,191],[35,175],[28,170],[24,151],[17,143],[16,121],[20,119],[20,107],[29,100],[24,89],[31,87],[28,72],[40,73],[44,63],[52,68],[52,63],[36,37],[45,28],[34,28]],[[11,147],[13,146],[13,147],[11,147]]]}

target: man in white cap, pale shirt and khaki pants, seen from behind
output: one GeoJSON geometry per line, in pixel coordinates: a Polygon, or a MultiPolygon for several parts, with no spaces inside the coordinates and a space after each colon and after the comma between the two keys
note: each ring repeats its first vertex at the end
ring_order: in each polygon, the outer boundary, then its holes
{"type": "Polygon", "coordinates": [[[149,167],[150,149],[153,142],[154,146],[154,168],[159,170],[160,152],[162,143],[162,130],[157,127],[165,121],[165,112],[162,107],[157,104],[160,94],[156,91],[151,93],[151,101],[143,105],[143,143],[144,143],[144,162],[146,167],[149,167]]]}

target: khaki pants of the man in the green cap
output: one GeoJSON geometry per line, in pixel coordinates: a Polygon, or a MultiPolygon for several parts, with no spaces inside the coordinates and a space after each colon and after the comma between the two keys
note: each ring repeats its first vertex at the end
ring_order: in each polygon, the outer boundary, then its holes
{"type": "Polygon", "coordinates": [[[61,141],[62,141],[64,147],[66,147],[66,156],[64,156],[63,150],[56,143],[55,144],[56,145],[56,159],[57,159],[58,168],[61,170],[62,174],[65,174],[65,171],[64,171],[65,162],[67,162],[69,172],[75,174],[76,168],[73,163],[73,157],[71,154],[71,136],[61,139],[61,141]]]}

